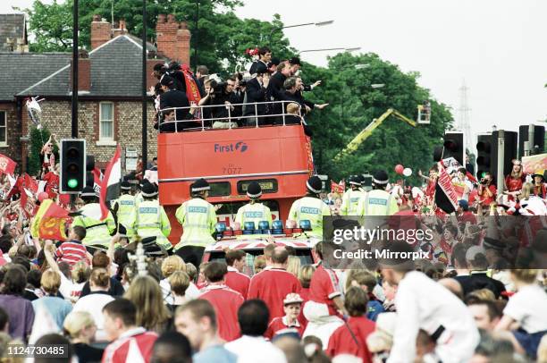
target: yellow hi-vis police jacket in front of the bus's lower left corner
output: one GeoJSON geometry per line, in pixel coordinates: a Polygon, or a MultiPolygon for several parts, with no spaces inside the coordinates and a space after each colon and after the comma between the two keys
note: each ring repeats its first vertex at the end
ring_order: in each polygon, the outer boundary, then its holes
{"type": "Polygon", "coordinates": [[[175,246],[202,246],[215,243],[212,234],[215,232],[215,207],[202,198],[191,198],[175,212],[177,221],[182,224],[181,241],[175,246]]]}

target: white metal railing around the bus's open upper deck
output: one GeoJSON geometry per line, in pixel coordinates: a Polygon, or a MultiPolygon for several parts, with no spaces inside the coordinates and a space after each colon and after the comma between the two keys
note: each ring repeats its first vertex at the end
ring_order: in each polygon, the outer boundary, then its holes
{"type": "MultiPolygon", "coordinates": [[[[240,126],[237,126],[238,121],[248,121],[250,120],[251,124],[247,122],[247,127],[260,127],[265,125],[265,120],[272,120],[272,121],[282,121],[282,123],[278,124],[279,126],[286,126],[289,121],[289,124],[306,124],[304,121],[304,118],[302,117],[300,107],[297,109],[298,113],[292,114],[287,112],[287,106],[289,104],[296,104],[294,101],[270,101],[270,102],[252,102],[252,103],[241,103],[241,104],[230,104],[230,105],[206,105],[206,106],[198,106],[198,105],[192,105],[187,107],[167,107],[159,110],[158,118],[158,129],[162,131],[162,126],[164,125],[174,125],[174,130],[171,132],[180,132],[180,131],[206,131],[209,129],[215,129],[215,130],[222,130],[222,129],[233,129],[233,128],[239,128],[240,126]],[[245,109],[245,113],[241,111],[241,114],[234,115],[234,111],[232,111],[232,107],[241,107],[241,110],[244,109],[244,106],[248,107],[250,106],[250,109],[254,109],[254,114],[248,114],[248,108],[245,109]],[[272,106],[269,109],[268,113],[259,113],[259,106],[272,106]],[[281,113],[272,113],[274,111],[273,106],[278,106],[277,109],[281,110],[281,113]],[[212,113],[215,112],[215,110],[221,110],[225,108],[227,112],[227,116],[222,117],[205,117],[204,110],[211,110],[212,113]],[[171,114],[173,111],[173,119],[167,119],[168,115],[171,114]],[[177,119],[177,113],[182,112],[184,115],[192,115],[192,118],[189,119],[177,119]],[[296,119],[298,119],[298,122],[294,122],[296,119]],[[253,122],[254,121],[254,122],[253,122]],[[186,127],[187,125],[195,125],[196,122],[200,122],[200,126],[198,127],[186,127]],[[225,122],[225,127],[212,127],[215,123],[214,122],[225,122]],[[211,126],[209,126],[209,123],[211,126]],[[254,125],[253,125],[254,123],[254,125]],[[234,126],[234,124],[236,126],[234,126]],[[181,126],[181,127],[179,127],[181,126]]],[[[268,123],[268,125],[271,125],[272,123],[268,123]]]]}

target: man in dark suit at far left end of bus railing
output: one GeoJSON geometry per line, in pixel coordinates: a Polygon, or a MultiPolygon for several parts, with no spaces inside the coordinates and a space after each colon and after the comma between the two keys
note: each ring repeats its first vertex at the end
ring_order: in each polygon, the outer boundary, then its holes
{"type": "MultiPolygon", "coordinates": [[[[160,110],[173,107],[187,107],[178,108],[176,110],[176,122],[160,122],[160,132],[182,131],[188,129],[189,127],[193,127],[193,122],[189,122],[189,120],[194,117],[194,110],[189,109],[190,105],[186,94],[175,89],[175,82],[171,76],[164,75],[160,83],[162,85],[162,89],[164,90],[164,93],[160,96],[160,110]]],[[[162,114],[168,113],[169,111],[162,111],[162,114]]]]}

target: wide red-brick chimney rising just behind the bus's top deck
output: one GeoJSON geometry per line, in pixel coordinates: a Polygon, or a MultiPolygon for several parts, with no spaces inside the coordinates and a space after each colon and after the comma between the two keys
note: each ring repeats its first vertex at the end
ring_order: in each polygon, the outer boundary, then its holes
{"type": "Polygon", "coordinates": [[[191,34],[185,22],[177,22],[173,14],[159,14],[156,23],[156,44],[159,55],[181,64],[189,64],[191,34]]]}

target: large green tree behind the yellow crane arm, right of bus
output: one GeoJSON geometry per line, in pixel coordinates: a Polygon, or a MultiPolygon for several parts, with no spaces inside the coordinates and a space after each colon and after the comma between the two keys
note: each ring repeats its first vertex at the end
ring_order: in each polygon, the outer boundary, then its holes
{"type": "MultiPolygon", "coordinates": [[[[310,126],[314,131],[314,153],[317,169],[339,180],[349,174],[373,173],[385,169],[395,177],[397,164],[427,170],[433,164],[433,146],[441,144],[444,130],[452,120],[449,107],[431,99],[429,91],[417,85],[416,72],[404,73],[374,54],[343,53],[329,59],[329,68],[306,64],[304,80],[324,84],[307,94],[316,103],[329,102],[322,111],[314,111],[310,126]],[[356,69],[357,64],[366,64],[356,69]],[[371,85],[385,87],[373,89],[371,85]],[[431,124],[412,128],[393,117],[388,118],[349,156],[334,163],[333,157],[363,130],[374,118],[389,108],[395,108],[410,119],[417,118],[417,105],[429,99],[432,107],[431,124]]],[[[414,177],[413,177],[414,178],[414,177]]],[[[411,180],[417,182],[417,179],[411,180]]]]}

